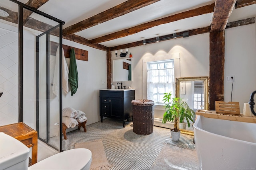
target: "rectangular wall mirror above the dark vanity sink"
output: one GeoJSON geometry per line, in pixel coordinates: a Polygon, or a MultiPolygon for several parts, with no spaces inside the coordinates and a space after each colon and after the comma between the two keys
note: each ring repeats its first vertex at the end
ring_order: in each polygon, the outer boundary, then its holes
{"type": "Polygon", "coordinates": [[[113,60],[113,82],[132,81],[132,58],[113,60]]]}

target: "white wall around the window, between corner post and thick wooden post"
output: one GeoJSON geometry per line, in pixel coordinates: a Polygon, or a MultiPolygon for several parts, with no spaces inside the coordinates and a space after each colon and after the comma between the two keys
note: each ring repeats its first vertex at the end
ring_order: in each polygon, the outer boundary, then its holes
{"type": "MultiPolygon", "coordinates": [[[[130,52],[133,57],[133,81],[123,82],[123,86],[135,88],[135,99],[146,97],[142,63],[147,57],[158,60],[163,55],[172,56],[171,54],[180,53],[180,77],[209,76],[209,33],[132,47],[129,48],[130,52]]],[[[120,57],[116,57],[112,51],[112,60],[115,59],[120,57]]],[[[113,83],[116,85],[116,82],[113,83]]],[[[162,118],[163,110],[161,109],[163,109],[162,106],[155,106],[154,117],[162,118]]]]}

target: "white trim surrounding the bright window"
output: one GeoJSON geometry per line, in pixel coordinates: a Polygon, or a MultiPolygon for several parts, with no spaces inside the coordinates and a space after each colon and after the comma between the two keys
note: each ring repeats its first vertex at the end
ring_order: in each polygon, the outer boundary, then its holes
{"type": "MultiPolygon", "coordinates": [[[[143,98],[147,98],[147,62],[174,59],[174,81],[180,77],[180,53],[172,53],[166,55],[156,55],[154,57],[146,57],[142,64],[142,91],[143,98]]],[[[155,109],[164,110],[163,105],[155,105],[155,109]]]]}

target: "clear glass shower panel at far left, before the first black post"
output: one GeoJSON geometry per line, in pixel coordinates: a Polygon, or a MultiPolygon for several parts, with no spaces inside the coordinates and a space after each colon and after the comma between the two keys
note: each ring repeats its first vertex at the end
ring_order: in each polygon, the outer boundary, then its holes
{"type": "Polygon", "coordinates": [[[18,27],[11,15],[18,5],[0,0],[0,126],[18,122],[18,27]],[[9,15],[9,16],[7,16],[9,15]]]}

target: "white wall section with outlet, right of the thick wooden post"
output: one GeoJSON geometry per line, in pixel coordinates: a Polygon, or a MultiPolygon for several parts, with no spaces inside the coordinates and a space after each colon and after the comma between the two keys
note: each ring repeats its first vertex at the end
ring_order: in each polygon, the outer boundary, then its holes
{"type": "MultiPolygon", "coordinates": [[[[242,113],[250,94],[256,90],[256,24],[225,30],[224,76],[234,76],[232,101],[242,113]]],[[[232,82],[224,80],[224,101],[231,101],[232,82]]],[[[255,100],[255,99],[254,99],[255,100]]]]}

